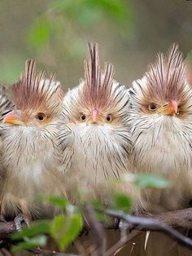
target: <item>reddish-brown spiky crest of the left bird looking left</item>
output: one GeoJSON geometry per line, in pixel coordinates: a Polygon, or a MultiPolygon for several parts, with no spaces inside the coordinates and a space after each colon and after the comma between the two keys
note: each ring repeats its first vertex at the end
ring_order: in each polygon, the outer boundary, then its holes
{"type": "Polygon", "coordinates": [[[54,111],[63,99],[63,90],[55,81],[55,74],[45,79],[45,72],[37,71],[34,60],[26,61],[24,72],[13,85],[13,94],[18,109],[51,108],[54,111]]]}

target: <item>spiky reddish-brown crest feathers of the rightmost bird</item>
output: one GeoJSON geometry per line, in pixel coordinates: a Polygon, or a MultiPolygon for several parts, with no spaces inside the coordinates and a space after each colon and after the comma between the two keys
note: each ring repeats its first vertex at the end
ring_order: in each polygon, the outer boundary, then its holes
{"type": "Polygon", "coordinates": [[[183,99],[186,85],[185,64],[182,53],[177,44],[173,44],[167,55],[157,55],[155,64],[151,64],[150,70],[145,75],[147,91],[144,96],[159,100],[183,99]]]}

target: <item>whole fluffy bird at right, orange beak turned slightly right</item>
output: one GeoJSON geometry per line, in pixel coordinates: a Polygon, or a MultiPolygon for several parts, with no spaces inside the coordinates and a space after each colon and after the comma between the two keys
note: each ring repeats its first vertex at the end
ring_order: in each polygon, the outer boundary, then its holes
{"type": "Polygon", "coordinates": [[[146,210],[182,208],[192,179],[192,90],[178,46],[159,54],[129,93],[133,172],[159,174],[175,183],[162,192],[144,191],[142,200],[150,202],[146,210]]]}

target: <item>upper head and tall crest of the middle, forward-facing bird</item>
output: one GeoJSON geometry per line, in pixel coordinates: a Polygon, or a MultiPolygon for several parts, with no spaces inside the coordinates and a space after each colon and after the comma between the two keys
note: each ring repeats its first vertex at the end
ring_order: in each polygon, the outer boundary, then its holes
{"type": "Polygon", "coordinates": [[[106,64],[104,71],[101,71],[98,44],[89,43],[88,48],[89,55],[84,65],[85,78],[64,99],[67,108],[70,106],[68,112],[75,117],[74,120],[79,121],[86,121],[85,116],[91,115],[94,122],[96,116],[99,116],[101,122],[117,121],[117,117],[124,116],[124,108],[129,106],[129,93],[124,86],[114,81],[114,68],[111,64],[106,64]],[[82,120],[82,117],[85,119],[82,120]]]}

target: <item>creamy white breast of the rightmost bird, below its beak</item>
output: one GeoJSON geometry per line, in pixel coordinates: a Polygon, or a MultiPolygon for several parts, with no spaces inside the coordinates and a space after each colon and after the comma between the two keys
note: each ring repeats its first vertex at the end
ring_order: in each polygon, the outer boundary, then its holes
{"type": "MultiPolygon", "coordinates": [[[[177,117],[139,117],[133,125],[132,161],[137,171],[171,175],[191,168],[189,123],[177,117]]],[[[191,127],[192,128],[192,127],[191,127]]]]}

